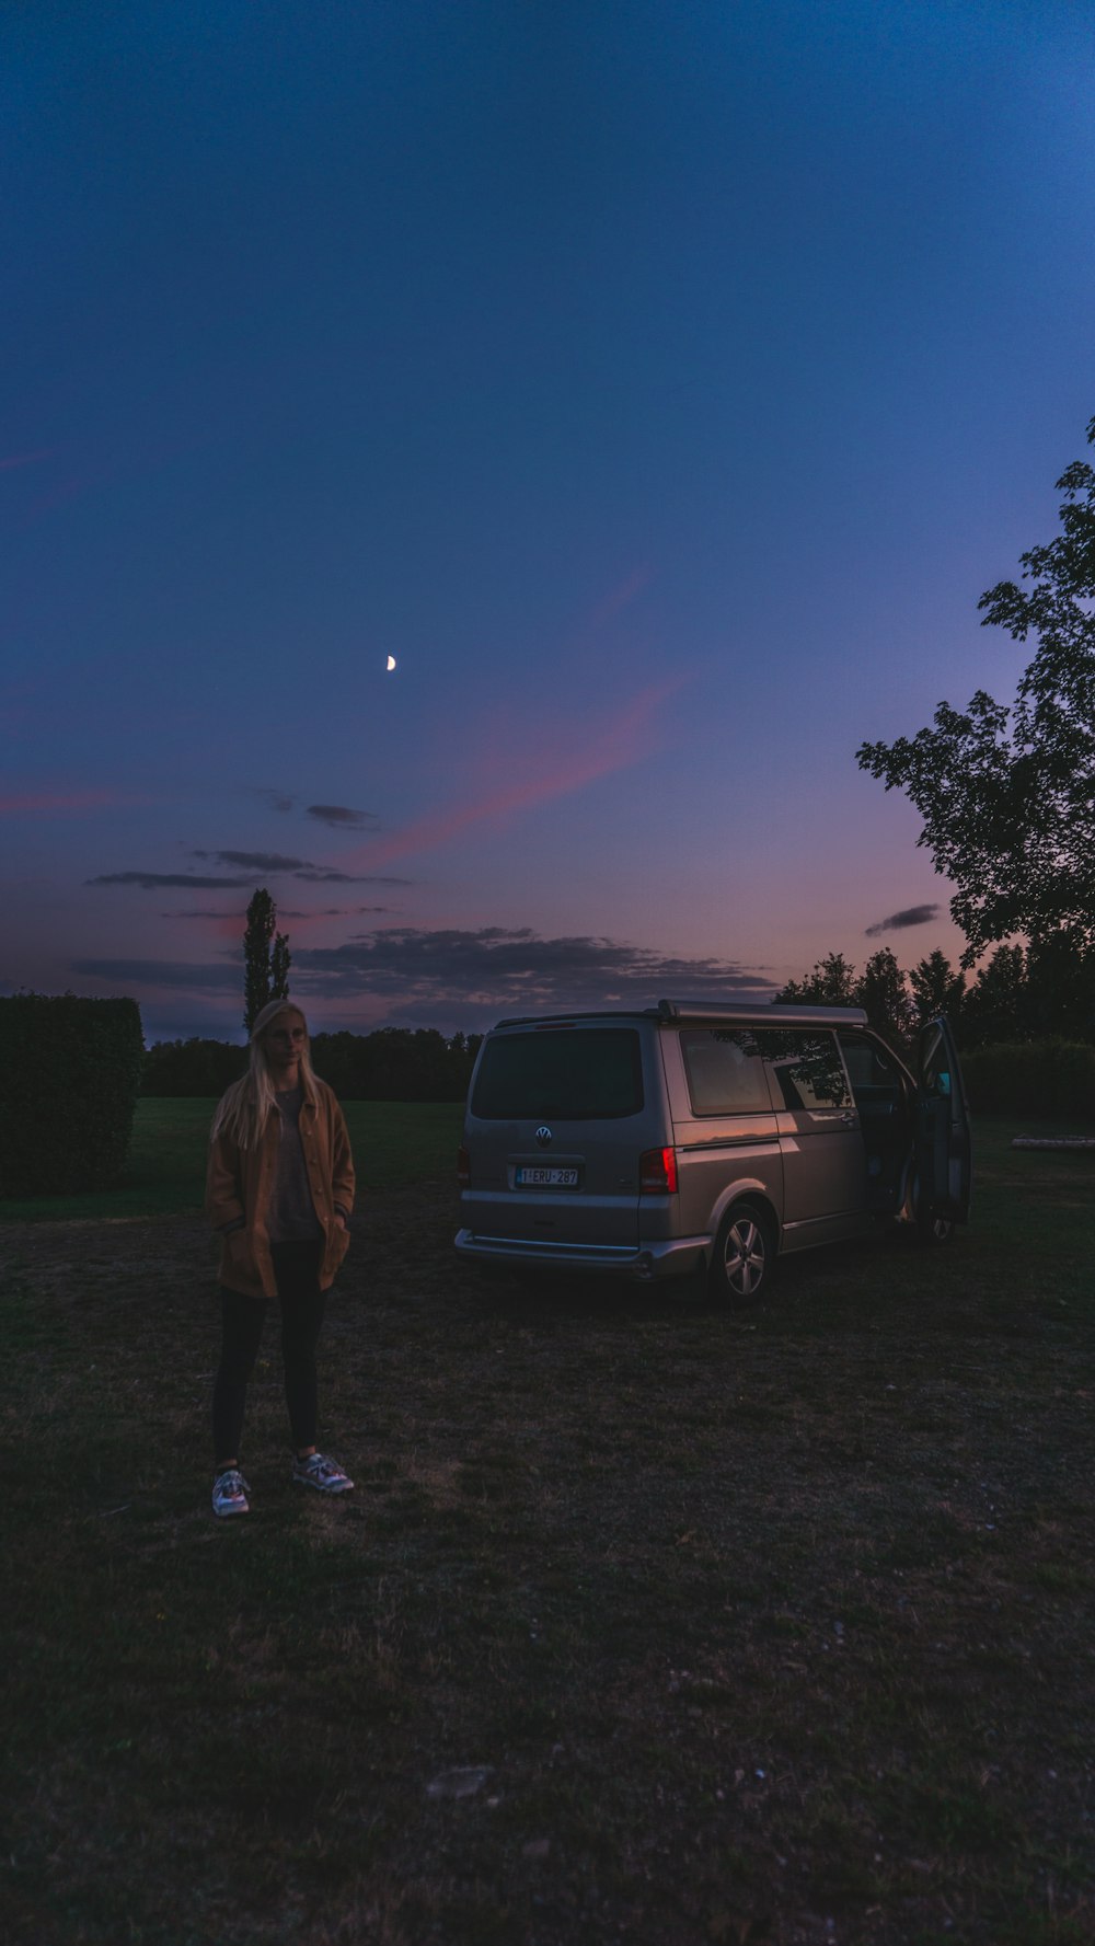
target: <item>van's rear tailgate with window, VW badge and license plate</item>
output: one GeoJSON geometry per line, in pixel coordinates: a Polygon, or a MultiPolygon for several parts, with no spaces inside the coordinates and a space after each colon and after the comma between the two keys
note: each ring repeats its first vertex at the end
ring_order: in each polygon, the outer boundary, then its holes
{"type": "Polygon", "coordinates": [[[667,1140],[655,1053],[653,1035],[626,1022],[488,1035],[465,1121],[465,1224],[547,1253],[638,1249],[638,1158],[667,1140]]]}

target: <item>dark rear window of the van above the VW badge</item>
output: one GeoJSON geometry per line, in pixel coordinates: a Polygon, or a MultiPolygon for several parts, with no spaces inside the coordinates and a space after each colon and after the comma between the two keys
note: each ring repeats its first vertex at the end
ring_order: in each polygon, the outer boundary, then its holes
{"type": "Polygon", "coordinates": [[[471,1113],[482,1121],[620,1121],[642,1107],[634,1027],[539,1027],[486,1041],[471,1113]]]}

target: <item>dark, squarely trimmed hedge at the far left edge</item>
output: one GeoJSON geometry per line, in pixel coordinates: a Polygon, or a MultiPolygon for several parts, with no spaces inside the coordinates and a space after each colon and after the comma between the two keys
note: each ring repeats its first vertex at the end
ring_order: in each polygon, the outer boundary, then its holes
{"type": "Polygon", "coordinates": [[[0,998],[0,1195],[107,1189],[140,1094],[136,1000],[0,998]]]}

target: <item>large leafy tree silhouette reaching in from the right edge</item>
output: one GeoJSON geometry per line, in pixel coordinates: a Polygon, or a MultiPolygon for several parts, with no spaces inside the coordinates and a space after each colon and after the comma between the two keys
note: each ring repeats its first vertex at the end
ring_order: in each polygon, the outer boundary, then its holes
{"type": "Polygon", "coordinates": [[[1074,461],[1058,492],[1062,533],[1021,555],[1031,586],[978,603],[984,627],[1037,640],[1015,703],[978,689],[965,712],[939,703],[934,728],[856,751],[920,811],[918,845],[957,887],[965,967],[1013,934],[1095,946],[1095,467],[1074,461]]]}

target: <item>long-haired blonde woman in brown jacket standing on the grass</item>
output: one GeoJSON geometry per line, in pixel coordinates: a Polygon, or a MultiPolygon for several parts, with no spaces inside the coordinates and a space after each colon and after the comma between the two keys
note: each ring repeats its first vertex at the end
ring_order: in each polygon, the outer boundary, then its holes
{"type": "Polygon", "coordinates": [[[307,1022],[270,1000],[251,1029],[249,1070],[214,1115],[206,1214],[220,1232],[222,1354],[212,1395],[214,1514],[247,1514],[239,1436],[270,1298],[282,1312],[292,1477],[319,1493],[354,1485],[315,1450],[315,1347],[346,1255],[354,1162],[342,1109],[311,1070],[307,1022]]]}

